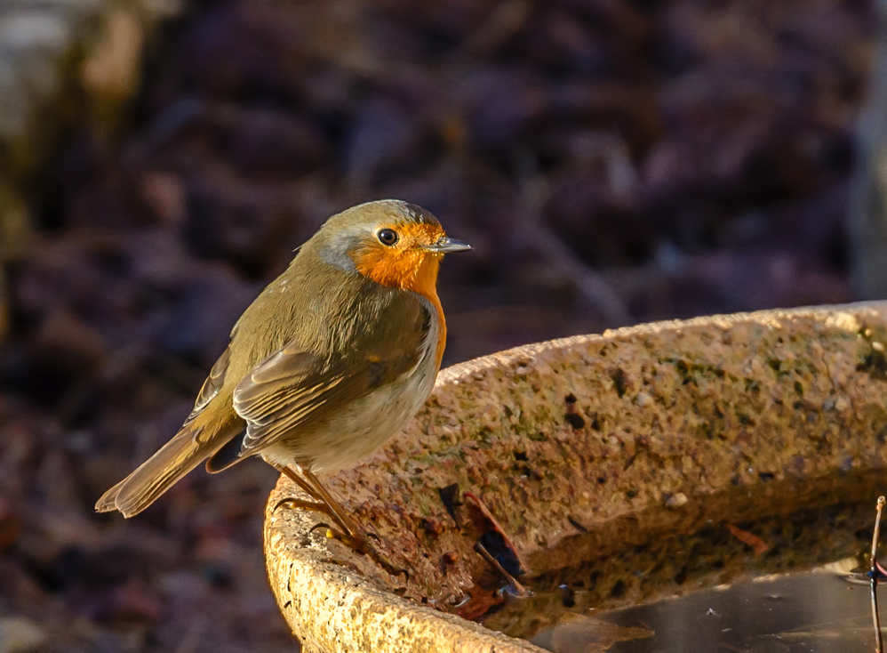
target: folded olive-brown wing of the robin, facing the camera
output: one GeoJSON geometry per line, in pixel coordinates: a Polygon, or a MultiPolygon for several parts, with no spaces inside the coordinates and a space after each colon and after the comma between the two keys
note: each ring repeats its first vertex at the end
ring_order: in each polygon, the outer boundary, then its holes
{"type": "Polygon", "coordinates": [[[333,415],[415,367],[425,324],[411,319],[380,336],[362,337],[339,358],[317,356],[296,342],[268,356],[234,391],[234,409],[247,423],[241,455],[333,415]]]}

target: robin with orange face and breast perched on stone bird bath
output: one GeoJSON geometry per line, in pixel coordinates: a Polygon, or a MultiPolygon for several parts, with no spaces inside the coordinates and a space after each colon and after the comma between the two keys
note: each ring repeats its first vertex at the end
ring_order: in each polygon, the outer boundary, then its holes
{"type": "Polygon", "coordinates": [[[132,517],[206,461],[260,455],[354,540],[316,477],[372,453],[419,410],[446,343],[437,270],[471,247],[420,206],[369,202],[333,215],[244,311],[194,409],[164,447],[99,499],[132,517]]]}

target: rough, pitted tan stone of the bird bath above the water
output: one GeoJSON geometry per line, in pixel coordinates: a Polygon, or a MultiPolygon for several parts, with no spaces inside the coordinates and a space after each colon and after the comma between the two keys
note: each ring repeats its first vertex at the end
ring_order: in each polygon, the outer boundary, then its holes
{"type": "Polygon", "coordinates": [[[278,605],[308,650],[537,650],[445,614],[494,593],[468,502],[457,523],[439,488],[481,497],[538,575],[581,555],[563,543],[653,508],[839,484],[887,466],[885,343],[878,302],[629,327],[444,370],[404,433],[330,481],[409,580],[309,532],[317,515],[275,511],[296,495],[281,480],[265,533],[278,605]]]}

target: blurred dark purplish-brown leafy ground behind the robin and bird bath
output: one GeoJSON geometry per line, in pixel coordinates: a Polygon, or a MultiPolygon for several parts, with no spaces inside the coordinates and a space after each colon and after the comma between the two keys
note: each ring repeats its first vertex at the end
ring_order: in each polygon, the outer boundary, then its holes
{"type": "Polygon", "coordinates": [[[343,208],[475,247],[444,364],[884,290],[873,0],[76,5],[0,1],[0,653],[296,648],[270,468],[92,505],[343,208]]]}

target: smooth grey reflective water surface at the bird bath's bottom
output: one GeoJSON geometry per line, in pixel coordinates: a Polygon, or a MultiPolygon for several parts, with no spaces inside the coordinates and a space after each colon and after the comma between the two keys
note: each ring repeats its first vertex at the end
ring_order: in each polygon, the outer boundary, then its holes
{"type": "Polygon", "coordinates": [[[820,569],[573,613],[531,641],[555,653],[851,653],[873,650],[875,633],[869,585],[820,569]]]}

